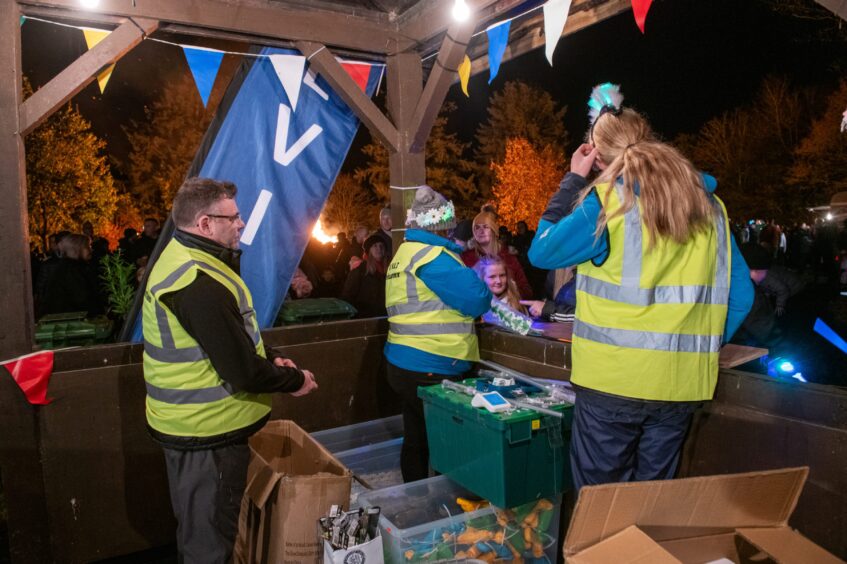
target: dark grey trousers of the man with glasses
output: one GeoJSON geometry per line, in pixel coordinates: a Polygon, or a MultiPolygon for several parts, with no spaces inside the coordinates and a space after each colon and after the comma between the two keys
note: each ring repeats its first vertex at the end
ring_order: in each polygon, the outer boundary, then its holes
{"type": "Polygon", "coordinates": [[[250,448],[245,441],[209,450],[163,450],[180,562],[228,564],[250,448]]]}

